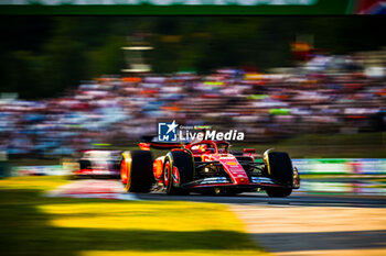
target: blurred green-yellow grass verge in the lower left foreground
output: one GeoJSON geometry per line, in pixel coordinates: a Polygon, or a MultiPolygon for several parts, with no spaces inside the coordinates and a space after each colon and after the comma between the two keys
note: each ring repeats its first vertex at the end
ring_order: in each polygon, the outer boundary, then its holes
{"type": "Polygon", "coordinates": [[[226,205],[42,197],[65,182],[0,180],[1,255],[268,255],[226,205]]]}

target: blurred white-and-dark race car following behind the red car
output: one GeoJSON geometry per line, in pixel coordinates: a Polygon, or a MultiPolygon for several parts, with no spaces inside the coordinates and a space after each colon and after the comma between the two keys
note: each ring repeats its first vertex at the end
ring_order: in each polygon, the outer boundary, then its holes
{"type": "Polygon", "coordinates": [[[88,149],[81,152],[76,159],[76,168],[71,171],[71,178],[119,178],[120,163],[122,159],[120,151],[88,149]]]}

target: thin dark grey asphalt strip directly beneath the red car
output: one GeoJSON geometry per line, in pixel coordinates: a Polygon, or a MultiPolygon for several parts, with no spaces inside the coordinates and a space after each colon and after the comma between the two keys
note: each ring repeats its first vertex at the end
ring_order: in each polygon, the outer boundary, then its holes
{"type": "Polygon", "coordinates": [[[304,207],[358,207],[358,208],[386,208],[384,196],[355,196],[355,194],[307,194],[292,192],[287,198],[269,198],[264,192],[242,193],[234,197],[225,196],[168,196],[164,192],[137,193],[140,200],[151,201],[194,201],[216,202],[230,204],[262,204],[262,205],[304,205],[304,207]]]}

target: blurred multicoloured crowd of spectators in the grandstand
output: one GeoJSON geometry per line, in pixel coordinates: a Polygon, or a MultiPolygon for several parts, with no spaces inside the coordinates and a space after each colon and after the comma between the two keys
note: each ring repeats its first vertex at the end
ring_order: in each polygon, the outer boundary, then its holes
{"type": "Polygon", "coordinates": [[[386,130],[383,68],[350,56],[317,56],[297,68],[260,74],[218,69],[211,75],[101,77],[63,97],[0,102],[0,151],[55,157],[95,144],[117,146],[156,134],[159,120],[244,131],[247,142],[301,133],[386,130]]]}

